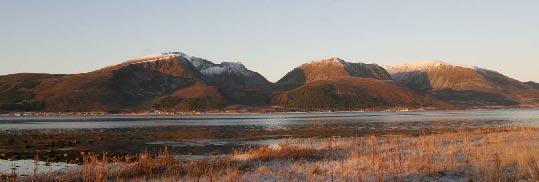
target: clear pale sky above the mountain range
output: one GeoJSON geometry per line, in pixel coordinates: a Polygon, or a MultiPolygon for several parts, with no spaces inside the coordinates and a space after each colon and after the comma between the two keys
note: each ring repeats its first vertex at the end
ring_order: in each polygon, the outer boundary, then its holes
{"type": "Polygon", "coordinates": [[[151,53],[241,61],[276,81],[316,59],[441,60],[539,81],[539,1],[2,0],[0,74],[151,53]]]}

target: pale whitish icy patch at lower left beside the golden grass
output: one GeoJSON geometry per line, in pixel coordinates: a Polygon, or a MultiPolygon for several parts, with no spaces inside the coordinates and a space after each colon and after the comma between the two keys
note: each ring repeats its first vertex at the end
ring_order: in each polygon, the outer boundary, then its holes
{"type": "Polygon", "coordinates": [[[0,173],[2,174],[12,174],[15,170],[15,174],[21,175],[33,175],[34,171],[38,174],[43,173],[58,173],[64,172],[71,169],[78,169],[79,165],[77,164],[67,164],[63,162],[58,163],[46,163],[43,161],[34,161],[34,160],[0,160],[0,173]]]}

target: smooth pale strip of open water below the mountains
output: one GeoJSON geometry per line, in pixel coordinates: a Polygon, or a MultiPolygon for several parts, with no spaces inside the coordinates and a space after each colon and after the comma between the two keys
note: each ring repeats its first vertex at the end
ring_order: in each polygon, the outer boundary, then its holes
{"type": "Polygon", "coordinates": [[[247,130],[286,130],[305,127],[356,129],[419,129],[424,127],[489,127],[505,124],[536,124],[533,109],[433,112],[297,113],[190,116],[0,116],[0,130],[145,128],[170,126],[242,126],[247,130]]]}

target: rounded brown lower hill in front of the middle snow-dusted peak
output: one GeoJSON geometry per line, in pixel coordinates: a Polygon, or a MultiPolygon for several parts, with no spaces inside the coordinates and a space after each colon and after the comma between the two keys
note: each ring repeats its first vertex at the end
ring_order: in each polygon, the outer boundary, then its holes
{"type": "Polygon", "coordinates": [[[341,77],[316,81],[277,94],[272,105],[300,110],[357,110],[380,107],[439,107],[452,105],[421,96],[403,85],[391,81],[360,77],[341,77]]]}

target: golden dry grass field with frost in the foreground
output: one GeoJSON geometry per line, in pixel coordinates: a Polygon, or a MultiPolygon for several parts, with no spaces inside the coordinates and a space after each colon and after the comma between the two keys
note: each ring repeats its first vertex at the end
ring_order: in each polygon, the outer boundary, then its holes
{"type": "Polygon", "coordinates": [[[83,161],[62,173],[2,176],[16,181],[538,181],[539,130],[291,139],[199,161],[177,161],[166,150],[140,154],[135,162],[102,155],[83,161]]]}

